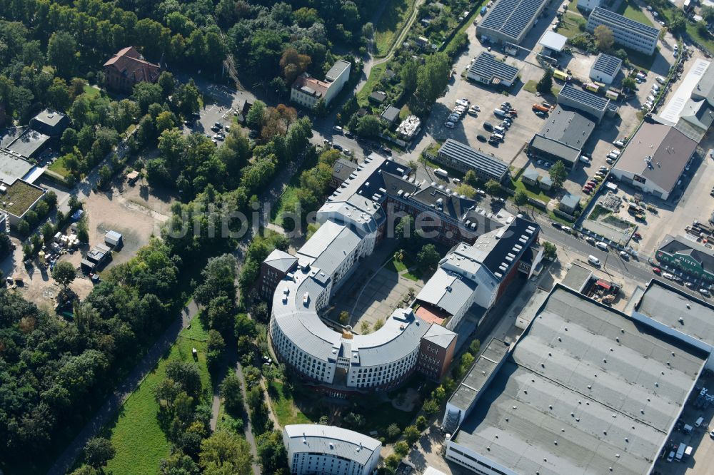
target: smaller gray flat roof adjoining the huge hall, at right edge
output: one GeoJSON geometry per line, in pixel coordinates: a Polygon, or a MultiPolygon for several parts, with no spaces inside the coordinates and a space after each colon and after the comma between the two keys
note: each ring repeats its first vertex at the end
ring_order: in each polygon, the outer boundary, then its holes
{"type": "Polygon", "coordinates": [[[635,310],[714,346],[714,306],[660,280],[650,280],[635,310]],[[680,320],[682,319],[682,320],[680,320]]]}

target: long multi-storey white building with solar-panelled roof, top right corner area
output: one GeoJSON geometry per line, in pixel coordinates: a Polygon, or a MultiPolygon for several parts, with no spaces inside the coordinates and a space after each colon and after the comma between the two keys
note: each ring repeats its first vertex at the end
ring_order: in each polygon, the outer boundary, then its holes
{"type": "Polygon", "coordinates": [[[596,6],[588,16],[585,28],[593,33],[600,25],[605,25],[612,30],[615,43],[625,48],[645,54],[653,54],[657,48],[660,31],[654,26],[642,24],[602,6],[596,6]]]}

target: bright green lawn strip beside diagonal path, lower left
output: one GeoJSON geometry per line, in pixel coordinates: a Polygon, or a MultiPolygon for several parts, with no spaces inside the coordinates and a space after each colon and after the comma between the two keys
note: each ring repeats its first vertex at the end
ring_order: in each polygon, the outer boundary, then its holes
{"type": "Polygon", "coordinates": [[[109,462],[106,473],[151,474],[159,471],[159,461],[170,454],[171,446],[164,432],[159,427],[157,414],[159,404],[154,399],[154,388],[164,380],[166,365],[172,360],[193,362],[191,349],[198,350],[198,369],[203,382],[203,401],[211,401],[211,378],[206,367],[207,332],[194,318],[191,328],[183,330],[171,346],[169,352],[159,361],[158,367],[149,373],[126,399],[119,410],[119,416],[104,428],[105,435],[111,439],[116,449],[116,456],[109,462]]]}

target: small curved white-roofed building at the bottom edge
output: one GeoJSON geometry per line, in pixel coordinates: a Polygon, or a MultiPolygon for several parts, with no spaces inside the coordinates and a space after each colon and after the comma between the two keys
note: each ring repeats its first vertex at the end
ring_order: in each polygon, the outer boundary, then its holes
{"type": "Polygon", "coordinates": [[[283,429],[283,444],[294,475],[367,475],[379,463],[382,443],[359,432],[319,424],[283,429]]]}

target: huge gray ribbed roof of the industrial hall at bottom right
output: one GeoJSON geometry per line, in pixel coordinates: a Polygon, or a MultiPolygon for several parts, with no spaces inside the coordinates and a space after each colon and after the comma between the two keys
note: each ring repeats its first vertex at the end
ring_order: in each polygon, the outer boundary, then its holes
{"type": "Polygon", "coordinates": [[[452,441],[519,474],[647,474],[705,359],[556,285],[452,441]]]}

